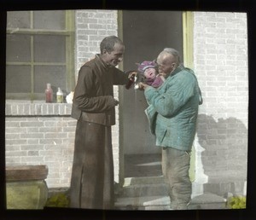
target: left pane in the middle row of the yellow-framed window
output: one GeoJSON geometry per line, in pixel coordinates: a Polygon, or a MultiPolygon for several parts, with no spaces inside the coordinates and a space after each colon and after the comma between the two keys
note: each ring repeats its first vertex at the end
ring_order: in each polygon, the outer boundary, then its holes
{"type": "Polygon", "coordinates": [[[6,61],[30,61],[30,36],[7,34],[6,61]]]}

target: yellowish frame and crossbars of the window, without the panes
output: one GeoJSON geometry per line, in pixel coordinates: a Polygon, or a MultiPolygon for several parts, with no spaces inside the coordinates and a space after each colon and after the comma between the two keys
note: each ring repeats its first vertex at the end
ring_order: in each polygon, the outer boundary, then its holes
{"type": "MultiPolygon", "coordinates": [[[[32,26],[33,12],[30,11],[30,26],[32,26]]],[[[7,20],[8,21],[8,20],[7,20]]],[[[34,87],[34,67],[35,66],[61,66],[66,67],[66,88],[67,91],[72,91],[75,85],[74,72],[74,45],[75,45],[75,11],[65,10],[65,30],[48,30],[48,29],[34,29],[34,28],[7,28],[6,34],[24,34],[30,36],[31,43],[31,60],[27,62],[6,61],[6,66],[29,66],[31,67],[30,78],[30,93],[8,93],[6,92],[6,99],[11,100],[44,100],[44,91],[42,93],[35,93],[34,87]],[[55,35],[64,36],[66,38],[66,62],[36,62],[33,61],[33,37],[38,35],[55,35]]]]}

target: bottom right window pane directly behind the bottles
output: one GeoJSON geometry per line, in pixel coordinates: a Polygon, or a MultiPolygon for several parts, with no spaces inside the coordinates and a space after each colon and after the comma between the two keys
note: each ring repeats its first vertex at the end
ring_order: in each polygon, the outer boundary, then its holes
{"type": "Polygon", "coordinates": [[[47,67],[37,66],[35,67],[35,92],[42,93],[46,88],[46,84],[52,85],[54,92],[58,87],[62,90],[66,90],[66,67],[47,67]]]}

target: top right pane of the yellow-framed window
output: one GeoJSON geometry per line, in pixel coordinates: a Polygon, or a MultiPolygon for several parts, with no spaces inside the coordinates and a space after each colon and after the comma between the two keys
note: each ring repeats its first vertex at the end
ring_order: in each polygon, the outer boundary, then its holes
{"type": "Polygon", "coordinates": [[[35,11],[34,28],[65,30],[65,11],[35,11]]]}

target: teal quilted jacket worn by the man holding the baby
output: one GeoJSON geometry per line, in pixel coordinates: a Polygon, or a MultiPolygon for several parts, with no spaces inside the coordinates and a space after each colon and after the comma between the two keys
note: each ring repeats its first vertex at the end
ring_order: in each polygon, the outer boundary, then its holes
{"type": "Polygon", "coordinates": [[[195,138],[200,88],[195,74],[177,67],[158,89],[147,87],[145,113],[156,145],[190,151],[195,138]]]}

